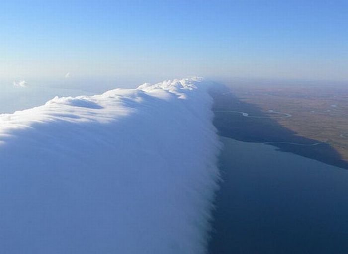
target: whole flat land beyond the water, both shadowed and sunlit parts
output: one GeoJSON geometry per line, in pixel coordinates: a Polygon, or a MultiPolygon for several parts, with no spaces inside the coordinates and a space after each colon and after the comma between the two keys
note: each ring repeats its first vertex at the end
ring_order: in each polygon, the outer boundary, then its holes
{"type": "Polygon", "coordinates": [[[222,136],[348,168],[348,88],[227,83],[212,94],[222,136]]]}

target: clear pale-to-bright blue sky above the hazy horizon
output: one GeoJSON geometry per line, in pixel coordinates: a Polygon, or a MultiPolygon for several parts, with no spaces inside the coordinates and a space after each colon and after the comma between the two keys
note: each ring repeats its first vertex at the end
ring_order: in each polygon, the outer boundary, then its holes
{"type": "Polygon", "coordinates": [[[0,80],[348,80],[347,1],[2,0],[0,80]]]}

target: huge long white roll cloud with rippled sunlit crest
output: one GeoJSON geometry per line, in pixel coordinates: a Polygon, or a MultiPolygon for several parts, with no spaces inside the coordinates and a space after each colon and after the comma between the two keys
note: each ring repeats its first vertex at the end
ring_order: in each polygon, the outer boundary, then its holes
{"type": "Polygon", "coordinates": [[[204,253],[218,170],[200,79],[0,115],[0,253],[204,253]]]}

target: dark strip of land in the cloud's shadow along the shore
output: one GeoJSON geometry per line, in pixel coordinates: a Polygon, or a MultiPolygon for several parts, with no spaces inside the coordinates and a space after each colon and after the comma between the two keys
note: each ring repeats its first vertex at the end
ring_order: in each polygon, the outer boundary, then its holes
{"type": "MultiPolygon", "coordinates": [[[[348,162],[330,144],[300,136],[280,125],[275,119],[279,114],[273,116],[274,110],[265,113],[257,106],[241,101],[221,84],[216,84],[210,94],[214,99],[214,125],[220,136],[242,142],[266,143],[283,152],[348,169],[348,162]]],[[[280,117],[289,115],[282,114],[280,117]]]]}

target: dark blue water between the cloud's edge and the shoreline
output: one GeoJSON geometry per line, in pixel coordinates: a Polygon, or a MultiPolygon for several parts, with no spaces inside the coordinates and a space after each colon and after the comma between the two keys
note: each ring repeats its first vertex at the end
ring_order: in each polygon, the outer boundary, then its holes
{"type": "Polygon", "coordinates": [[[348,170],[222,141],[210,254],[348,254],[348,170]]]}

